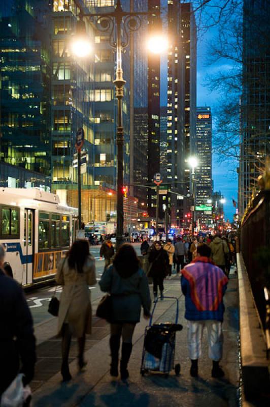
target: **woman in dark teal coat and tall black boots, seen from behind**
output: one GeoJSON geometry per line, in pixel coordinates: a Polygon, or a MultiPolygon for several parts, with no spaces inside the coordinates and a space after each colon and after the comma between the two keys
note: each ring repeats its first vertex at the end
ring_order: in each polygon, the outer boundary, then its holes
{"type": "Polygon", "coordinates": [[[122,336],[120,374],[129,376],[127,364],[132,351],[134,328],[140,322],[141,308],[150,317],[151,298],[147,276],[140,267],[137,254],[130,244],[123,244],[117,251],[113,265],[108,267],[99,281],[100,289],[112,296],[113,317],[111,322],[111,369],[118,376],[118,352],[122,336]]]}

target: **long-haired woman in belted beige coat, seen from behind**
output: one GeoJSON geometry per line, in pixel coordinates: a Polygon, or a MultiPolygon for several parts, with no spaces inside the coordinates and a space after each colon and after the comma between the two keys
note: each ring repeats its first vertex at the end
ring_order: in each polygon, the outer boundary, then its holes
{"type": "Polygon", "coordinates": [[[79,369],[85,366],[83,353],[85,334],[91,333],[92,309],[89,285],[96,283],[95,260],[89,253],[87,240],[73,243],[56,275],[57,284],[63,285],[60,297],[58,336],[62,337],[63,381],[71,380],[69,353],[72,335],[78,338],[79,369]]]}

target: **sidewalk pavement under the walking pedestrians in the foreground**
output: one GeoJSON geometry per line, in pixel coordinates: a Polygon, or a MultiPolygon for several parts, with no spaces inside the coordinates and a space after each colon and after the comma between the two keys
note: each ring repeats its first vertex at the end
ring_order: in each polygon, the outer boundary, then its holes
{"type": "MultiPolygon", "coordinates": [[[[179,323],[183,330],[176,337],[175,363],[180,362],[179,376],[171,372],[165,378],[160,373],[140,374],[145,327],[144,318],[137,325],[133,337],[133,350],[128,365],[130,377],[127,383],[112,379],[109,374],[109,326],[103,320],[94,318],[93,333],[87,338],[85,358],[88,362],[85,372],[78,373],[76,360],[76,343],[71,353],[70,369],[73,380],[61,383],[60,375],[60,340],[53,338],[55,319],[46,326],[39,326],[37,335],[45,335],[45,341],[38,337],[37,372],[32,382],[33,406],[35,407],[236,407],[239,405],[239,312],[238,281],[231,274],[225,295],[226,311],[224,314],[224,352],[221,366],[225,377],[212,379],[212,363],[208,359],[206,335],[203,340],[203,357],[199,360],[199,377],[189,375],[190,361],[186,344],[186,320],[184,318],[184,297],[181,294],[179,276],[165,280],[165,296],[179,299],[179,323]],[[52,330],[53,329],[53,330],[52,330]],[[51,332],[51,339],[48,339],[51,332]],[[50,343],[51,342],[51,343],[50,343]],[[46,351],[47,347],[47,351],[46,351]],[[42,353],[43,351],[43,353],[42,353]],[[47,352],[47,353],[46,353],[47,352]],[[36,390],[35,390],[36,389],[36,390]]],[[[93,310],[98,301],[93,304],[93,310]]],[[[175,301],[159,301],[154,313],[153,322],[174,321],[175,301]]]]}

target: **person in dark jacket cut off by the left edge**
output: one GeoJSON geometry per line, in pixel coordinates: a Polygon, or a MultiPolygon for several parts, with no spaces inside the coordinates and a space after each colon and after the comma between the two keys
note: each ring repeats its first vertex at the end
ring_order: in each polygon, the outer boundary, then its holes
{"type": "Polygon", "coordinates": [[[4,257],[0,245],[0,398],[19,372],[24,386],[30,383],[36,363],[32,316],[22,288],[3,270],[4,257]]]}

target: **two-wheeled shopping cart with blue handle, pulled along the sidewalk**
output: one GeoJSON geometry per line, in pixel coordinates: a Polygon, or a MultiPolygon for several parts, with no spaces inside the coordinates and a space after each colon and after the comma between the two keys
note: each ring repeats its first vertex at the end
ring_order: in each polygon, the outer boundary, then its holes
{"type": "Polygon", "coordinates": [[[160,323],[152,325],[153,315],[158,303],[155,301],[151,313],[149,325],[145,329],[144,348],[142,357],[142,376],[149,371],[156,371],[168,376],[171,370],[175,374],[180,373],[180,363],[175,365],[175,341],[176,332],[181,331],[183,326],[178,324],[179,302],[176,297],[163,297],[164,299],[176,300],[175,323],[160,323]]]}

